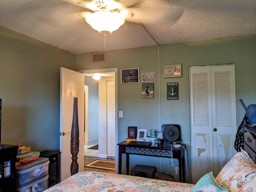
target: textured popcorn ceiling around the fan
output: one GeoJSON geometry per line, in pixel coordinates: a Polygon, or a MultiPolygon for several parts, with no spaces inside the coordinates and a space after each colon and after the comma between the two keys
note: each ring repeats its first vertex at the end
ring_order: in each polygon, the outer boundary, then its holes
{"type": "Polygon", "coordinates": [[[119,0],[134,16],[106,37],[83,0],[0,0],[0,25],[74,54],[256,34],[256,0],[119,0]]]}

